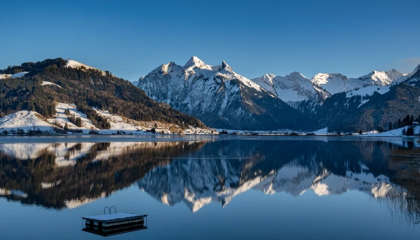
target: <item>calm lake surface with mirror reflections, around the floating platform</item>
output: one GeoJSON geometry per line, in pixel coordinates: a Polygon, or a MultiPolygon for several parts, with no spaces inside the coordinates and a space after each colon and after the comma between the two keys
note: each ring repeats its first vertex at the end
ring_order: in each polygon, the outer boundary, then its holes
{"type": "Polygon", "coordinates": [[[4,137],[0,236],[102,239],[81,218],[115,206],[149,215],[116,240],[418,240],[417,140],[4,137]]]}

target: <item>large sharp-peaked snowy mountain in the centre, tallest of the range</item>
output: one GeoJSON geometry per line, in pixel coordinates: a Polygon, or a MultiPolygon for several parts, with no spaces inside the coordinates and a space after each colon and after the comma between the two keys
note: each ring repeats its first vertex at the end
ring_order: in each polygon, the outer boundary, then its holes
{"type": "Polygon", "coordinates": [[[301,119],[298,111],[224,61],[210,66],[191,57],[183,67],[169,62],[140,78],[137,86],[212,127],[276,130],[294,128],[301,119]]]}

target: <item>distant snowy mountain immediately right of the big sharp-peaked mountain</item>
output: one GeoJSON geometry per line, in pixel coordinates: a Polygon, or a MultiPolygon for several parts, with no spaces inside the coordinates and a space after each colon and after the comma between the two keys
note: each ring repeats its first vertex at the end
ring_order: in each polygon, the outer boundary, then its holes
{"type": "Polygon", "coordinates": [[[313,110],[330,96],[319,84],[297,72],[285,77],[267,74],[252,81],[300,111],[313,110]]]}

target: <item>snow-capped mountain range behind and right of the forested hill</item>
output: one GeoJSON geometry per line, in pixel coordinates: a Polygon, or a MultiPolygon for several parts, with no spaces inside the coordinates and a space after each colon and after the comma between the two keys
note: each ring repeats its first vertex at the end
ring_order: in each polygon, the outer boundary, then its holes
{"type": "MultiPolygon", "coordinates": [[[[358,132],[388,126],[389,121],[395,122],[407,114],[419,115],[420,105],[415,102],[409,108],[403,107],[406,102],[397,102],[377,109],[378,102],[372,97],[379,93],[387,99],[402,98],[393,95],[391,89],[404,88],[407,82],[412,82],[407,90],[417,94],[415,82],[419,80],[419,66],[408,75],[392,69],[373,71],[359,78],[317,74],[308,79],[294,72],[285,77],[267,74],[248,79],[235,73],[224,61],[221,65],[210,66],[191,57],[184,66],[173,62],[164,64],[136,83],[153,99],[196,116],[212,127],[238,130],[328,127],[330,131],[358,132]],[[406,111],[400,111],[396,106],[406,111]],[[365,119],[360,116],[369,115],[372,109],[383,111],[376,112],[370,124],[363,123],[365,119]],[[351,121],[346,125],[338,124],[343,117],[351,121]]],[[[410,100],[418,96],[410,96],[410,100]]]]}

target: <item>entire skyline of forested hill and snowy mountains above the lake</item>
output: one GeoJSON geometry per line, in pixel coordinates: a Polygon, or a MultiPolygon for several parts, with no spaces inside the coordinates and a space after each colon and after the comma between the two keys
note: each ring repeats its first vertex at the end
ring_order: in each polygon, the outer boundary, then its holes
{"type": "Polygon", "coordinates": [[[0,128],[14,126],[11,122],[19,116],[38,116],[50,128],[61,117],[64,120],[55,125],[60,127],[67,122],[60,107],[66,104],[72,104],[82,125],[89,126],[86,132],[118,130],[122,122],[130,125],[123,128],[134,131],[140,130],[139,122],[152,128],[167,124],[168,133],[206,126],[366,132],[398,126],[407,115],[414,119],[420,115],[420,65],[409,74],[392,69],[359,78],[317,74],[309,79],[294,72],[249,79],[224,61],[210,66],[191,57],[183,66],[163,64],[135,83],[137,87],[109,71],[70,59],[9,66],[0,70],[0,128]],[[16,114],[19,111],[23,112],[16,114]],[[15,115],[3,117],[10,114],[15,115]]]}

